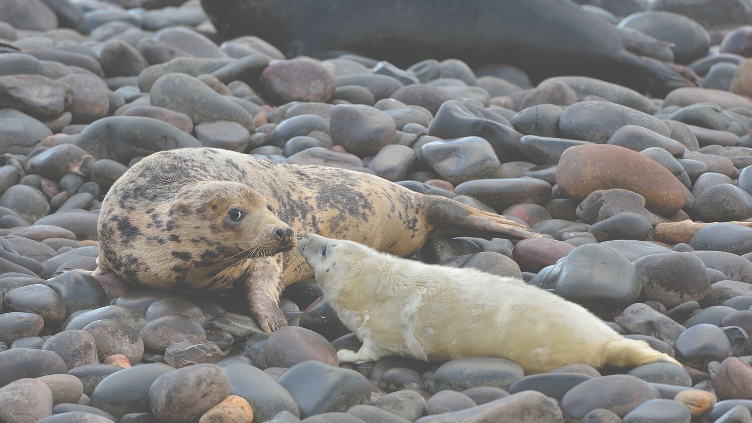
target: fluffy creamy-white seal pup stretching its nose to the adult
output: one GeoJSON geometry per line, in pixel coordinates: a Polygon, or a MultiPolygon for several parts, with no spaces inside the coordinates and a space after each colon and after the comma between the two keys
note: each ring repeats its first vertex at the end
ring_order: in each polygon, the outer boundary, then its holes
{"type": "Polygon", "coordinates": [[[520,279],[424,264],[316,234],[298,248],[329,304],[363,342],[358,352],[339,351],[342,363],[491,355],[517,362],[525,373],[566,364],[681,366],[644,341],[617,334],[584,307],[520,279]]]}

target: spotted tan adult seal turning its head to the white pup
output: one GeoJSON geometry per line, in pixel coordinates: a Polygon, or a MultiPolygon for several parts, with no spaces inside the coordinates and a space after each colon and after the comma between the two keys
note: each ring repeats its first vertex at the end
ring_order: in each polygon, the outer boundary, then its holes
{"type": "Polygon", "coordinates": [[[370,174],[186,148],[147,156],[114,183],[99,215],[95,274],[181,293],[242,285],[251,314],[273,331],[287,325],[280,292],[313,276],[290,229],[401,256],[439,234],[539,236],[370,174]]]}

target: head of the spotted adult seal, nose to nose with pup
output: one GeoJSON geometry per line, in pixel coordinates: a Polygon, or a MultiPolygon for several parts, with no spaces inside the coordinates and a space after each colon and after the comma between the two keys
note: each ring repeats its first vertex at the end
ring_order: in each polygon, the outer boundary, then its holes
{"type": "Polygon", "coordinates": [[[274,216],[263,195],[242,183],[186,186],[177,192],[168,216],[177,216],[175,231],[180,237],[219,240],[226,259],[275,255],[295,246],[293,229],[274,216]]]}

